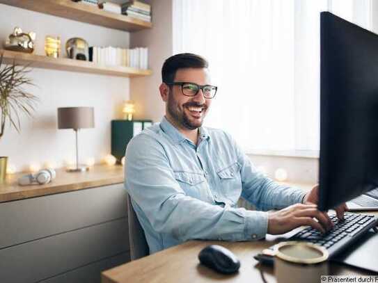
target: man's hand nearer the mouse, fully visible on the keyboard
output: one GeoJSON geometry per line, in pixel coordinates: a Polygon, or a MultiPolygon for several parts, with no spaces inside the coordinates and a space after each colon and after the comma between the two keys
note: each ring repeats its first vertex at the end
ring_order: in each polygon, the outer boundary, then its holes
{"type": "Polygon", "coordinates": [[[333,227],[331,219],[326,213],[318,211],[316,204],[294,204],[279,211],[269,212],[269,234],[283,234],[305,225],[318,229],[322,233],[333,227]]]}

